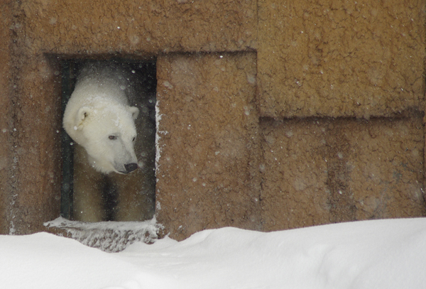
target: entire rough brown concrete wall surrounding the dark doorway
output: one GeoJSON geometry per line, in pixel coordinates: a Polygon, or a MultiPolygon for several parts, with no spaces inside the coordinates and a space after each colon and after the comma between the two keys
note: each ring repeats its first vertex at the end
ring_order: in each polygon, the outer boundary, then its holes
{"type": "Polygon", "coordinates": [[[175,239],[426,214],[420,0],[0,5],[2,234],[59,215],[65,58],[157,61],[156,215],[175,239]]]}

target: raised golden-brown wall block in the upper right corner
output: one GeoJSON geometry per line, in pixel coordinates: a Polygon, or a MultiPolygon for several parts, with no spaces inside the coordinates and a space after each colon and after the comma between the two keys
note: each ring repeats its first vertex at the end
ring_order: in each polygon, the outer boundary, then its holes
{"type": "Polygon", "coordinates": [[[258,3],[263,116],[423,110],[424,1],[258,3]]]}

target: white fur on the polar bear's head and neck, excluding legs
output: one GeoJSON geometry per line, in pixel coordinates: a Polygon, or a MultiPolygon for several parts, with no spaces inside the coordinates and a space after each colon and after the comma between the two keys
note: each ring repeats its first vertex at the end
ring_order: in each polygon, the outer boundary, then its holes
{"type": "Polygon", "coordinates": [[[124,165],[138,163],[133,143],[139,110],[129,105],[132,93],[121,67],[91,64],[83,68],[67,103],[64,129],[99,172],[126,173],[124,165]]]}

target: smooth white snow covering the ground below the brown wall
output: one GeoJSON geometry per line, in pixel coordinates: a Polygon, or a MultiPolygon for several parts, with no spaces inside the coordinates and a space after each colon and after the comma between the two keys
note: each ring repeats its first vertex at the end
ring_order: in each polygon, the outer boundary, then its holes
{"type": "Polygon", "coordinates": [[[52,234],[0,236],[0,288],[426,288],[426,218],[262,233],[202,231],[105,253],[52,234]]]}

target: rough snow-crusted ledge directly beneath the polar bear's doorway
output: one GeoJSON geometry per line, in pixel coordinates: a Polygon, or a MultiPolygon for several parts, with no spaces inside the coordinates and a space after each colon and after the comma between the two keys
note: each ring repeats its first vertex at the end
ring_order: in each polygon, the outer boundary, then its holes
{"type": "Polygon", "coordinates": [[[70,221],[58,217],[43,224],[49,229],[65,230],[66,236],[80,243],[106,252],[119,252],[136,241],[152,244],[158,239],[163,225],[155,217],[145,222],[96,222],[70,221]]]}

